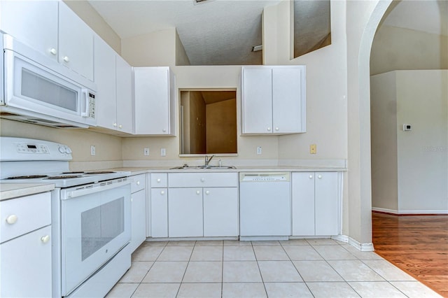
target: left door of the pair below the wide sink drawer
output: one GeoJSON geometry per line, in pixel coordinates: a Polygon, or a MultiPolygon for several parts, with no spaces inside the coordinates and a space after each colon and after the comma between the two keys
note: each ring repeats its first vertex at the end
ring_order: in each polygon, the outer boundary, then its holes
{"type": "Polygon", "coordinates": [[[202,188],[169,188],[170,237],[202,237],[202,188]]]}

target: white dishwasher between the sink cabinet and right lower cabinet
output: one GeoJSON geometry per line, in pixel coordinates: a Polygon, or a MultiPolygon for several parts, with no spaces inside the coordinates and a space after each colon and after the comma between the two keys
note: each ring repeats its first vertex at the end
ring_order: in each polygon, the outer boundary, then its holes
{"type": "Polygon", "coordinates": [[[239,173],[240,240],[283,240],[291,234],[290,173],[239,173]]]}

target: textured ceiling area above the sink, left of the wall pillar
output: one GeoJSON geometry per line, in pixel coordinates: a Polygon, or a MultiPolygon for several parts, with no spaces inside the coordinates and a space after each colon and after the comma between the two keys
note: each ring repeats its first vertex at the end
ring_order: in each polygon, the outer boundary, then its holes
{"type": "Polygon", "coordinates": [[[175,27],[192,65],[261,64],[261,15],[279,1],[89,1],[120,38],[175,27]]]}

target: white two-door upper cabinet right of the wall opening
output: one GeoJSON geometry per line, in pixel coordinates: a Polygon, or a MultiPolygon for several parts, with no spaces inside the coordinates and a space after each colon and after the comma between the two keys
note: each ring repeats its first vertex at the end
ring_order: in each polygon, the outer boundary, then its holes
{"type": "Polygon", "coordinates": [[[305,132],[305,67],[242,67],[242,134],[305,132]]]}

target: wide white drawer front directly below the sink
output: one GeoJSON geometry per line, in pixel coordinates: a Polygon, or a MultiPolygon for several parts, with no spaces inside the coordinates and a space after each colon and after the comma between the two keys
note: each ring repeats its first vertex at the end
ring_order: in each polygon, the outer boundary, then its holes
{"type": "Polygon", "coordinates": [[[169,187],[237,187],[238,173],[169,173],[169,187]]]}

